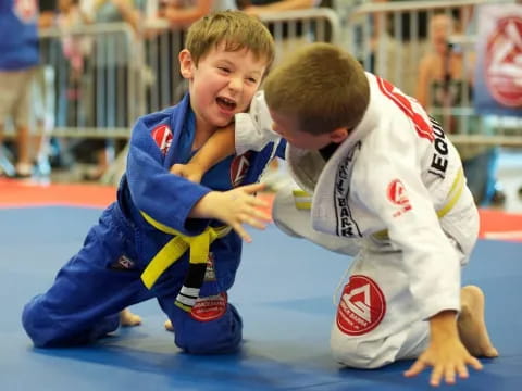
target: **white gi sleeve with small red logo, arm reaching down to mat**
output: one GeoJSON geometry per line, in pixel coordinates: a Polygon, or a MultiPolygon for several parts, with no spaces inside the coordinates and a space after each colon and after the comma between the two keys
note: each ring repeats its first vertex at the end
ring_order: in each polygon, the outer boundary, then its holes
{"type": "Polygon", "coordinates": [[[393,248],[402,252],[408,276],[403,283],[421,316],[460,311],[460,261],[422,181],[417,150],[405,147],[403,140],[387,139],[386,144],[371,147],[380,151],[371,162],[358,162],[353,195],[383,220],[393,248]]]}

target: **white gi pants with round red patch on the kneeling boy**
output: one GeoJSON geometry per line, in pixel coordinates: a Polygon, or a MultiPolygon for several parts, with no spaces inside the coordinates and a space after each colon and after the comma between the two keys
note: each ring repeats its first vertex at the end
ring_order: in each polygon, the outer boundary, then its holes
{"type": "MultiPolygon", "coordinates": [[[[461,265],[467,263],[478,231],[476,209],[467,205],[473,205],[473,199],[464,189],[453,206],[456,213],[440,222],[461,265]]],[[[290,189],[277,193],[273,219],[287,235],[356,255],[332,326],[331,349],[336,361],[356,368],[377,368],[415,358],[427,348],[428,321],[421,318],[419,301],[410,293],[400,251],[373,238],[351,240],[314,230],[310,211],[296,209],[290,189]]]]}

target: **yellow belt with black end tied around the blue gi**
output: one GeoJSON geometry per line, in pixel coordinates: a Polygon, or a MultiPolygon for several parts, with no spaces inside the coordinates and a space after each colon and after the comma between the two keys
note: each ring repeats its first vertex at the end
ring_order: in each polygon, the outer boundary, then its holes
{"type": "MultiPolygon", "coordinates": [[[[215,239],[223,238],[232,230],[232,228],[228,226],[207,227],[207,229],[200,235],[190,237],[154,220],[145,212],[141,212],[141,215],[147,223],[154,228],[175,236],[158,252],[158,254],[154,255],[141,274],[141,280],[148,289],[152,288],[158,278],[160,278],[160,276],[169,268],[169,266],[179,260],[188,249],[190,249],[188,273],[196,270],[194,267],[191,267],[194,265],[207,265],[210,244],[212,244],[215,239]]],[[[203,268],[199,267],[197,269],[198,273],[203,273],[203,276],[196,279],[202,281],[206,268],[203,266],[203,268]]],[[[187,281],[187,279],[188,276],[185,281],[187,281]]],[[[181,295],[178,295],[176,299],[176,305],[185,311],[190,311],[198,298],[199,288],[201,287],[186,287],[184,285],[181,295]],[[190,292],[190,294],[183,294],[184,292],[190,292]]]]}

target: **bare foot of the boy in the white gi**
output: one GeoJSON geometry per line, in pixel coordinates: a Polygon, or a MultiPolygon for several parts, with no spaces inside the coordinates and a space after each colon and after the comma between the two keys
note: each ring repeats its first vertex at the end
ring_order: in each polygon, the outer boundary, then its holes
{"type": "Polygon", "coordinates": [[[459,335],[468,351],[477,357],[497,357],[484,320],[484,293],[475,286],[460,291],[462,310],[458,318],[459,335]]]}

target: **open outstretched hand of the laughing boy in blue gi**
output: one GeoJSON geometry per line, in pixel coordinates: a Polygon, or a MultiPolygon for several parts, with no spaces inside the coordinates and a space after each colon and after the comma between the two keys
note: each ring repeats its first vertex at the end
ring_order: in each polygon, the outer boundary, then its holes
{"type": "Polygon", "coordinates": [[[251,242],[252,238],[243,224],[264,229],[266,223],[271,222],[271,216],[259,210],[266,207],[266,202],[253,195],[263,188],[263,184],[253,184],[228,191],[211,191],[194,206],[190,217],[222,220],[229,225],[243,240],[251,242]]]}

